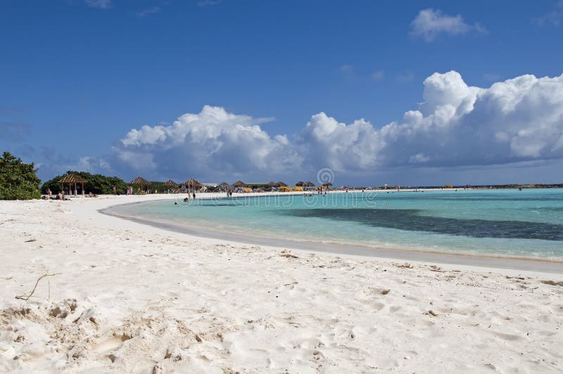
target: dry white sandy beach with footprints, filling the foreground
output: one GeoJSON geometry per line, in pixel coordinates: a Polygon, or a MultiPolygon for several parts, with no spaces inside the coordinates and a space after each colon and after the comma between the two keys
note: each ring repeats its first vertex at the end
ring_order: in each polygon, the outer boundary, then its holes
{"type": "Polygon", "coordinates": [[[560,273],[244,245],[98,212],[151,198],[0,202],[0,370],[563,370],[560,273]]]}

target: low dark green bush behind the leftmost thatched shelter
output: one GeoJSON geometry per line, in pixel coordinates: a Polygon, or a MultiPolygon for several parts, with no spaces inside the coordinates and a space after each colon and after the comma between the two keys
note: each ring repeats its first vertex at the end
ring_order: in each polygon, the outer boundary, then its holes
{"type": "MultiPolygon", "coordinates": [[[[42,193],[47,193],[47,188],[50,188],[52,193],[58,193],[58,191],[61,191],[61,183],[58,181],[68,174],[75,174],[86,181],[86,183],[84,183],[84,193],[111,194],[113,193],[113,188],[115,187],[117,193],[124,194],[127,189],[127,183],[117,176],[105,176],[101,174],[90,174],[87,172],[73,172],[72,170],[69,170],[66,174],[58,175],[43,183],[43,186],[41,187],[42,193]]],[[[80,183],[77,184],[80,186],[80,183]]]]}

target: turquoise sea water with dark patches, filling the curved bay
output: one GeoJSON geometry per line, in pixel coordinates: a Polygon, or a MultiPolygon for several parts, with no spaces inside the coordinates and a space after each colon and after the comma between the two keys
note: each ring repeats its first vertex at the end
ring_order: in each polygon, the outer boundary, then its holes
{"type": "Polygon", "coordinates": [[[563,189],[366,191],[160,200],[128,217],[248,237],[400,250],[563,259],[563,189]]]}

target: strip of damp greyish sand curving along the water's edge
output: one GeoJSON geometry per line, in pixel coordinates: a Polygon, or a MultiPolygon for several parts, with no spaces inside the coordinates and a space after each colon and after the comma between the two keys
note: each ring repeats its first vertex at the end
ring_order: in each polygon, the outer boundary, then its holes
{"type": "MultiPolygon", "coordinates": [[[[340,192],[340,191],[339,191],[340,192]]],[[[300,193],[301,194],[301,193],[300,193]]],[[[237,197],[243,198],[245,196],[237,197]]],[[[248,196],[250,197],[250,196],[248,196]]],[[[259,196],[255,196],[259,197],[259,196]]],[[[203,197],[205,199],[205,197],[203,197]]],[[[156,201],[165,201],[171,199],[154,199],[156,201]]],[[[291,240],[278,237],[260,237],[251,236],[244,233],[215,231],[210,228],[198,226],[197,229],[191,229],[189,226],[179,226],[172,222],[155,221],[151,219],[129,217],[122,214],[112,212],[112,209],[118,205],[134,205],[144,202],[129,202],[99,209],[98,212],[106,214],[110,217],[126,219],[137,224],[152,226],[175,233],[183,233],[198,238],[207,238],[211,240],[226,240],[247,245],[265,245],[267,247],[287,248],[289,250],[305,250],[320,253],[331,253],[341,255],[353,255],[361,257],[369,257],[376,259],[396,259],[413,262],[424,262],[434,264],[463,265],[476,266],[479,268],[490,269],[508,269],[521,271],[538,271],[545,273],[563,273],[563,259],[545,259],[541,257],[519,257],[519,256],[502,256],[502,254],[487,255],[473,253],[453,253],[439,252],[432,250],[407,250],[403,248],[384,248],[372,247],[367,245],[346,244],[346,243],[323,243],[315,240],[291,240]]]]}

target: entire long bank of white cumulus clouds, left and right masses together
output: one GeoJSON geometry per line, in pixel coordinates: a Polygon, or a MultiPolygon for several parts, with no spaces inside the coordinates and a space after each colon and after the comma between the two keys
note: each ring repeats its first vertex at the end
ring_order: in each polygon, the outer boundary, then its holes
{"type": "Polygon", "coordinates": [[[364,119],[346,124],[320,112],[291,137],[264,131],[260,124],[268,119],[206,105],[170,125],[132,129],[115,154],[139,171],[227,176],[563,159],[563,75],[522,75],[480,88],[455,71],[434,73],[422,96],[418,108],[383,127],[364,119]]]}

